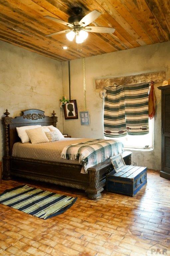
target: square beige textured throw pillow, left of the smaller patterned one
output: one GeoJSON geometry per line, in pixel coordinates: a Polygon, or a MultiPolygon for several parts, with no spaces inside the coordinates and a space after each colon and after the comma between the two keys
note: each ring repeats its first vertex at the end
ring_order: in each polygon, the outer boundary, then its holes
{"type": "Polygon", "coordinates": [[[42,127],[26,130],[26,133],[28,134],[32,144],[49,142],[49,139],[47,138],[42,127]]]}

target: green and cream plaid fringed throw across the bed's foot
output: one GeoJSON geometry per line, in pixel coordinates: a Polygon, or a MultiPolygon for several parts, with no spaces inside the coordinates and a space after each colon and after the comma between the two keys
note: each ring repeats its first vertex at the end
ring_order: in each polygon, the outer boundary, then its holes
{"type": "Polygon", "coordinates": [[[87,173],[87,169],[91,166],[122,152],[122,142],[96,139],[66,146],[62,151],[61,157],[69,160],[79,160],[79,163],[83,165],[87,173]]]}

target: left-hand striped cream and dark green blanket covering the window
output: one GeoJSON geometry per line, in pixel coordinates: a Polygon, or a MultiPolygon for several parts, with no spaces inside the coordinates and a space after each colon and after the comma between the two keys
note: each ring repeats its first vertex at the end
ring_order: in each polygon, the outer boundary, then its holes
{"type": "Polygon", "coordinates": [[[125,122],[124,86],[105,87],[104,98],[104,135],[122,137],[127,134],[125,122]]]}

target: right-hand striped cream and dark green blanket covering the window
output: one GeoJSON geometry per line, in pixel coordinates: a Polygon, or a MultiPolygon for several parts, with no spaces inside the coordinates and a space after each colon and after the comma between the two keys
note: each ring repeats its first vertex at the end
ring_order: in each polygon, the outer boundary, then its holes
{"type": "Polygon", "coordinates": [[[125,85],[126,129],[129,135],[149,133],[149,83],[125,85]]]}

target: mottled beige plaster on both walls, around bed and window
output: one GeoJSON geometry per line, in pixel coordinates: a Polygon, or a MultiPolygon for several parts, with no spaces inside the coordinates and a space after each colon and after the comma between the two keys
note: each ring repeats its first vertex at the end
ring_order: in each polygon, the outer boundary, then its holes
{"type": "MultiPolygon", "coordinates": [[[[83,48],[83,45],[82,45],[83,48]]],[[[6,108],[10,116],[36,108],[51,115],[55,110],[58,128],[72,137],[103,138],[103,100],[95,90],[95,79],[166,71],[170,78],[170,42],[85,58],[86,106],[90,125],[81,126],[79,119],[65,120],[59,99],[69,98],[68,62],[29,52],[0,41],[0,117],[6,108]]],[[[70,62],[71,99],[76,99],[78,112],[85,110],[83,59],[70,62]]],[[[157,86],[159,86],[157,84],[157,86]]],[[[157,111],[154,119],[154,149],[132,151],[132,164],[161,168],[161,91],[155,86],[157,111]]],[[[0,159],[3,156],[3,128],[0,124],[0,159]]]]}

